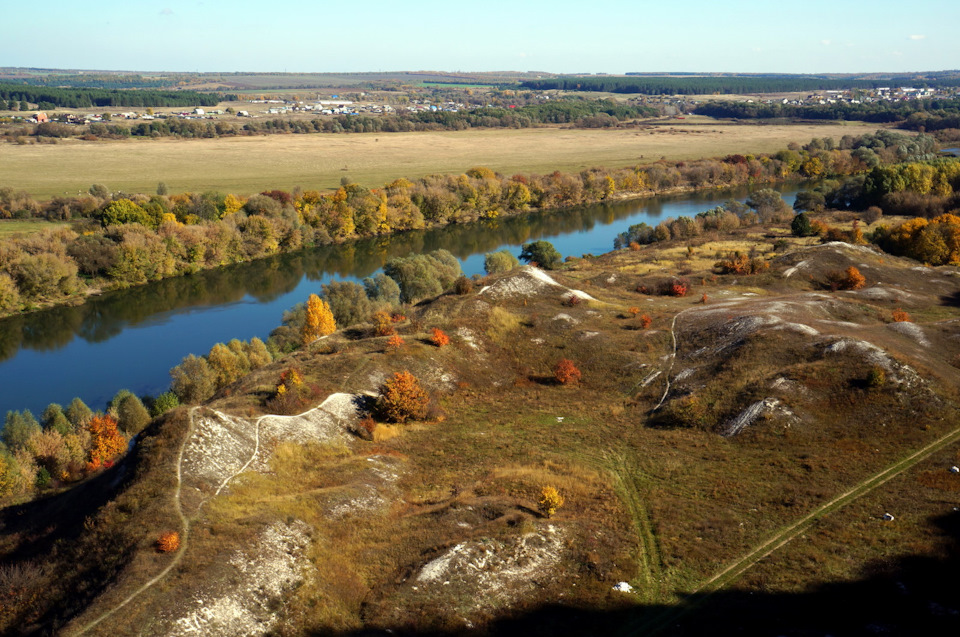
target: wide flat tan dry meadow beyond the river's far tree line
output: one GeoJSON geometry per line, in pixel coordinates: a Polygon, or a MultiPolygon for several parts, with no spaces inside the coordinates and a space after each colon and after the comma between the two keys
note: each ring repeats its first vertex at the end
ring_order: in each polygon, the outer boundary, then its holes
{"type": "Polygon", "coordinates": [[[504,174],[619,167],[661,157],[696,159],[773,152],[788,142],[874,130],[858,124],[754,126],[684,124],[650,130],[530,128],[430,133],[269,135],[204,140],[126,140],[5,146],[3,185],[37,197],[112,190],[172,192],[334,188],[341,177],[379,186],[397,177],[489,166],[504,174]]]}

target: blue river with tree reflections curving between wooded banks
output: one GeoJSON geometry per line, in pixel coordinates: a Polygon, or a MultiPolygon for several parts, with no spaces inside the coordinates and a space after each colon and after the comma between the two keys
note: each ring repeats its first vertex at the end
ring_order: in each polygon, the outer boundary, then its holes
{"type": "MultiPolygon", "coordinates": [[[[796,189],[783,189],[792,204],[796,189]]],[[[79,396],[104,409],[121,388],[166,391],[169,370],[217,342],[266,340],[283,311],[333,279],[359,280],[394,256],[445,248],[467,275],[483,273],[483,255],[545,239],[563,256],[602,254],[632,224],[692,216],[749,189],[698,192],[553,213],[408,232],[304,250],[254,263],[109,292],[75,307],[0,320],[0,414],[79,396]]],[[[0,425],[2,426],[2,425],[0,425]]]]}

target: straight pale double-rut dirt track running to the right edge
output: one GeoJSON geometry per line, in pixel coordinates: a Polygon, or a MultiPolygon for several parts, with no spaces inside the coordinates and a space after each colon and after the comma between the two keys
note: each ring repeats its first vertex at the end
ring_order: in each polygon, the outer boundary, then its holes
{"type": "Polygon", "coordinates": [[[734,581],[744,572],[749,570],[754,564],[767,557],[781,546],[794,539],[797,535],[805,531],[817,519],[822,518],[836,511],[837,509],[840,509],[844,505],[849,504],[853,500],[856,500],[860,496],[873,491],[877,487],[892,480],[907,469],[910,469],[917,463],[928,458],[932,454],[941,451],[945,447],[948,447],[956,442],[960,442],[960,427],[938,438],[926,447],[913,452],[906,458],[890,465],[880,473],[863,480],[844,493],[834,497],[829,502],[820,505],[796,522],[781,529],[762,544],[758,545],[747,554],[741,556],[735,562],[727,565],[724,569],[709,579],[703,581],[694,590],[690,591],[687,597],[692,599],[694,596],[697,596],[695,600],[683,605],[674,606],[661,613],[658,613],[655,617],[632,622],[628,624],[628,626],[624,627],[623,630],[618,632],[618,634],[653,635],[667,629],[677,619],[695,610],[697,607],[703,604],[704,601],[709,599],[713,593],[719,591],[724,586],[734,581]]]}

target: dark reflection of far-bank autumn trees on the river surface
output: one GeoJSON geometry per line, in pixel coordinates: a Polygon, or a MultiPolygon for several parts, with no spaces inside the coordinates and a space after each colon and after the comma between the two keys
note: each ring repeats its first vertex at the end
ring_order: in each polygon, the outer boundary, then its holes
{"type": "MultiPolygon", "coordinates": [[[[720,196],[741,198],[747,194],[748,188],[738,188],[720,196]]],[[[0,360],[12,357],[21,347],[58,349],[75,336],[92,343],[103,342],[127,326],[184,308],[235,303],[247,295],[259,303],[269,303],[294,290],[304,276],[310,281],[363,278],[380,270],[393,257],[440,248],[466,259],[499,250],[504,244],[519,245],[544,236],[589,231],[597,224],[609,225],[639,211],[659,217],[671,202],[714,202],[718,195],[718,191],[696,192],[414,230],[116,290],[82,305],[0,320],[0,360]]]]}

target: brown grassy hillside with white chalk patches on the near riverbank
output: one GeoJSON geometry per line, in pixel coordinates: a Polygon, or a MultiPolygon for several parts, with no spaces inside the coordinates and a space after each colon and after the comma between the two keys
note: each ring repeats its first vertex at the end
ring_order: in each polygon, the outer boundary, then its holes
{"type": "Polygon", "coordinates": [[[355,326],[168,414],[0,511],[0,632],[956,630],[960,272],[752,232],[491,276],[399,349],[355,326]],[[768,270],[711,271],[750,246],[768,270]],[[267,414],[291,367],[307,411],[267,414]],[[403,370],[426,418],[369,432],[403,370]]]}

